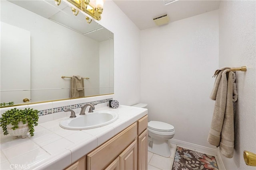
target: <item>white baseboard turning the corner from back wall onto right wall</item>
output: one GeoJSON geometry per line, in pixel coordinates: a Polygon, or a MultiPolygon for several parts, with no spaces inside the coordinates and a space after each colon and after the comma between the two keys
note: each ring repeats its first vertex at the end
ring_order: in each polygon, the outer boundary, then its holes
{"type": "Polygon", "coordinates": [[[186,148],[198,150],[200,152],[216,156],[216,161],[217,161],[219,170],[226,170],[225,166],[222,162],[221,156],[220,156],[220,151],[217,150],[217,149],[203,147],[203,146],[196,145],[196,144],[193,144],[193,143],[179,141],[177,139],[170,139],[168,142],[169,142],[169,145],[175,144],[175,145],[179,145],[181,147],[186,147],[186,148]]]}

